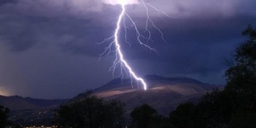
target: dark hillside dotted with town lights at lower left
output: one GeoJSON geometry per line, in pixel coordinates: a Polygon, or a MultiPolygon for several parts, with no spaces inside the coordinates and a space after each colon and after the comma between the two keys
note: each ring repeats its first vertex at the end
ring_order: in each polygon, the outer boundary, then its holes
{"type": "Polygon", "coordinates": [[[53,110],[68,99],[33,99],[30,97],[0,96],[0,105],[10,108],[10,121],[15,124],[50,125],[53,110]]]}

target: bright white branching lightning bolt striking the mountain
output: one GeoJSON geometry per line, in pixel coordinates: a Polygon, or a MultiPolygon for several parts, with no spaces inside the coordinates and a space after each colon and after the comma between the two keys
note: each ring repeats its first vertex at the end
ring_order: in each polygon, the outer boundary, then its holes
{"type": "MultiPolygon", "coordinates": [[[[121,1],[121,0],[119,0],[119,1],[121,1]]],[[[157,50],[155,50],[154,48],[151,48],[150,46],[146,45],[146,43],[144,43],[142,41],[142,39],[146,39],[147,44],[148,44],[148,42],[151,41],[151,31],[148,29],[149,25],[151,24],[151,26],[153,26],[154,29],[159,31],[159,34],[161,34],[162,40],[165,42],[162,31],[159,28],[157,28],[157,26],[154,24],[153,20],[151,20],[151,18],[149,17],[148,7],[151,7],[153,10],[156,10],[157,12],[162,13],[162,15],[165,15],[169,18],[171,18],[171,17],[169,15],[167,15],[165,12],[162,12],[162,10],[157,9],[157,7],[154,7],[153,5],[148,4],[148,3],[146,3],[145,1],[142,0],[142,4],[143,4],[143,7],[146,8],[146,15],[147,15],[145,31],[147,32],[148,36],[144,36],[143,34],[140,34],[140,31],[139,31],[138,26],[136,25],[135,21],[132,20],[132,18],[127,14],[126,4],[124,4],[124,3],[119,3],[119,4],[121,5],[121,13],[118,16],[115,33],[112,37],[104,39],[102,42],[99,43],[99,44],[102,44],[104,42],[109,42],[110,43],[108,45],[108,47],[105,48],[105,51],[100,55],[99,59],[101,59],[102,56],[104,56],[105,54],[107,54],[107,56],[108,56],[110,53],[115,52],[116,53],[116,59],[115,59],[115,61],[113,61],[112,67],[110,67],[110,70],[113,70],[113,76],[114,76],[114,72],[115,72],[116,68],[120,67],[121,74],[120,74],[119,77],[124,78],[124,72],[125,72],[131,78],[131,85],[133,83],[133,81],[132,81],[132,78],[133,78],[133,79],[137,80],[137,83],[140,82],[143,85],[143,89],[146,90],[148,87],[147,87],[147,84],[146,84],[145,80],[143,80],[143,78],[140,78],[138,75],[136,75],[136,73],[132,70],[132,67],[129,66],[126,59],[124,59],[124,54],[121,50],[121,45],[120,45],[121,43],[120,43],[120,39],[119,39],[119,34],[121,32],[122,21],[123,21],[124,30],[125,30],[125,41],[128,44],[129,44],[129,42],[127,41],[127,29],[128,29],[128,27],[124,23],[126,18],[129,21],[131,21],[132,25],[135,28],[138,43],[140,45],[142,45],[143,47],[148,48],[149,50],[153,50],[154,52],[157,53],[157,50]],[[116,50],[113,51],[113,47],[116,50]]],[[[133,88],[133,85],[132,85],[132,88],[133,88]]]]}

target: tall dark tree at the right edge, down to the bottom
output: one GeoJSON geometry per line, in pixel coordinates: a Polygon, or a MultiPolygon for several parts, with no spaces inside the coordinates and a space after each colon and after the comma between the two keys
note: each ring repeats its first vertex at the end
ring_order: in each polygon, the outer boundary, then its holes
{"type": "Polygon", "coordinates": [[[230,126],[255,126],[256,113],[256,28],[242,33],[246,41],[236,49],[236,65],[227,70],[225,94],[233,105],[230,126]],[[238,120],[241,120],[239,124],[238,120]],[[234,124],[234,125],[233,125],[234,124]]]}

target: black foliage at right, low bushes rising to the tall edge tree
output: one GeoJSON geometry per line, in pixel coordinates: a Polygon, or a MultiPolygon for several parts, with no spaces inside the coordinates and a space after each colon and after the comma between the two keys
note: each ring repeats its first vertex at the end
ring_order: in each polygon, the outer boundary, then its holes
{"type": "Polygon", "coordinates": [[[214,89],[195,106],[179,105],[170,113],[176,127],[256,127],[256,29],[248,26],[242,34],[246,41],[236,49],[236,64],[225,73],[225,89],[214,89]]]}

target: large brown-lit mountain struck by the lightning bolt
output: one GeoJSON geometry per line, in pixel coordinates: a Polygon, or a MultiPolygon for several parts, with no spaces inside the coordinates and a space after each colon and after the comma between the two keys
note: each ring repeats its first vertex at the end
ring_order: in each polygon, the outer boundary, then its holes
{"type": "Polygon", "coordinates": [[[114,79],[104,86],[94,89],[94,94],[104,99],[120,99],[126,105],[127,114],[133,108],[143,104],[151,105],[162,115],[175,110],[182,102],[198,102],[198,100],[214,88],[222,86],[202,83],[191,78],[165,78],[159,75],[144,77],[148,89],[144,91],[130,79],[114,79]]]}

